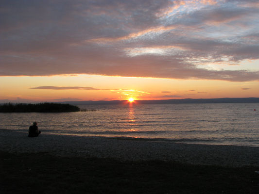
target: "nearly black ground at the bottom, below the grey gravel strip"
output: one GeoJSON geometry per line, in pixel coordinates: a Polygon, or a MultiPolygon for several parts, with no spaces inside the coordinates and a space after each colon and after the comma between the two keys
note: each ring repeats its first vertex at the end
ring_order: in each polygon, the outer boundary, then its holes
{"type": "Polygon", "coordinates": [[[0,193],[258,194],[258,170],[0,151],[0,193]]]}

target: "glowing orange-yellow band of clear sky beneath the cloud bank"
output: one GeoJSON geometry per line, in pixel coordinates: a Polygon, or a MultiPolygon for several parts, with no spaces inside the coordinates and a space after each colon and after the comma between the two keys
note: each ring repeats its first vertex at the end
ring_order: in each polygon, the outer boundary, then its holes
{"type": "Polygon", "coordinates": [[[95,75],[0,77],[0,102],[259,97],[259,82],[95,75]]]}

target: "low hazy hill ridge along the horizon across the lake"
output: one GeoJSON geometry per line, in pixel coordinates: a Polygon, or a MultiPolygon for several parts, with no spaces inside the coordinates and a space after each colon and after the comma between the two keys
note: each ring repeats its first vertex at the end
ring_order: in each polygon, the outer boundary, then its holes
{"type": "MultiPolygon", "coordinates": [[[[66,103],[73,105],[105,105],[105,104],[125,104],[128,100],[99,100],[99,101],[66,101],[58,103],[66,103]]],[[[200,99],[169,99],[169,100],[136,100],[139,104],[199,104],[199,103],[259,103],[259,97],[245,98],[200,98],[200,99]]]]}

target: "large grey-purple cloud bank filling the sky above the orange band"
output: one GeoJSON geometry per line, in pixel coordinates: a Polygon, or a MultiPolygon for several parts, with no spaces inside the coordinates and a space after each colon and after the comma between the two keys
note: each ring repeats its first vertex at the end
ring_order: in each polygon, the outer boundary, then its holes
{"type": "Polygon", "coordinates": [[[207,68],[259,59],[257,5],[253,0],[3,0],[0,76],[258,81],[257,70],[207,68]]]}

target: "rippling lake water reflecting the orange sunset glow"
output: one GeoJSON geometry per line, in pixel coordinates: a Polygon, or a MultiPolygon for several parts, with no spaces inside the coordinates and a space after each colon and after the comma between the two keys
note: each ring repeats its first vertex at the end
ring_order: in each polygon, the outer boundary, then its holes
{"type": "Polygon", "coordinates": [[[259,146],[259,103],[82,105],[95,112],[0,113],[0,129],[259,146]],[[254,111],[256,109],[256,111],[254,111]]]}

